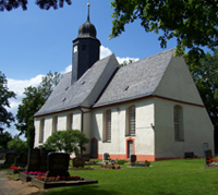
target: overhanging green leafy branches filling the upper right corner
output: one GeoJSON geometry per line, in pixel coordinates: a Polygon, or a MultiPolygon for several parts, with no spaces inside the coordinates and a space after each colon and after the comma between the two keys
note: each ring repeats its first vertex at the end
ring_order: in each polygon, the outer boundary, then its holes
{"type": "Polygon", "coordinates": [[[177,53],[187,48],[189,58],[199,60],[202,47],[215,49],[218,46],[218,2],[214,0],[113,0],[114,10],[110,38],[124,32],[125,24],[141,21],[146,32],[161,33],[160,46],[177,38],[177,53]]]}

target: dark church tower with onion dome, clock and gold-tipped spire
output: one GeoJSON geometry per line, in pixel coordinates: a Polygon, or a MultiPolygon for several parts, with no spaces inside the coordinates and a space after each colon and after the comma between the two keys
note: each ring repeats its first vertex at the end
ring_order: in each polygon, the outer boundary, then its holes
{"type": "Polygon", "coordinates": [[[87,21],[78,28],[78,36],[73,40],[72,84],[99,60],[100,41],[96,34],[96,28],[89,21],[88,3],[87,21]]]}

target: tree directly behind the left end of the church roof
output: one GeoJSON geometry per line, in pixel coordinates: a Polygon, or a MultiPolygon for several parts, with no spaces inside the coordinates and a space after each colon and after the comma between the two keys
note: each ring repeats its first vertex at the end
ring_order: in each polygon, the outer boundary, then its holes
{"type": "Polygon", "coordinates": [[[34,127],[34,114],[46,102],[53,87],[60,81],[61,74],[49,72],[43,77],[38,87],[29,86],[25,88],[25,97],[22,99],[22,103],[19,106],[16,113],[16,129],[20,131],[20,135],[25,134],[27,137],[27,144],[29,148],[34,147],[35,127],[34,127]]]}

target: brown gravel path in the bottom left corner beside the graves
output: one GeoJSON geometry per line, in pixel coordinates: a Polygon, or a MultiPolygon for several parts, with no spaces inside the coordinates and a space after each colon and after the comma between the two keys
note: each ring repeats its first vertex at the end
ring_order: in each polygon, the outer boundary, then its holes
{"type": "Polygon", "coordinates": [[[32,186],[29,182],[10,179],[0,171],[0,195],[43,195],[43,190],[32,186]]]}

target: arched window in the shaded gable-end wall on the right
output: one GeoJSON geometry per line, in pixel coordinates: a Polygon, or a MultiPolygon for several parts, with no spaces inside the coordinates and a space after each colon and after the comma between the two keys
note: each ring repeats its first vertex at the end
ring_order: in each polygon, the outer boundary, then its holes
{"type": "Polygon", "coordinates": [[[181,106],[174,106],[174,141],[184,141],[183,111],[181,106]]]}

